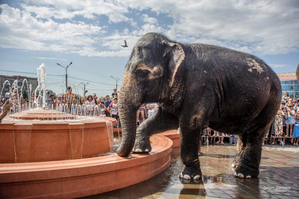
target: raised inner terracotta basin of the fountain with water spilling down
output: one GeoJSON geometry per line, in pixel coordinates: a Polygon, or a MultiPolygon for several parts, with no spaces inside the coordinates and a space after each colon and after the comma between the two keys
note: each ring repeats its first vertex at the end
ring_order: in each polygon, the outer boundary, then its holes
{"type": "Polygon", "coordinates": [[[0,129],[0,163],[97,157],[110,151],[115,123],[113,118],[79,116],[62,121],[5,118],[0,129]]]}

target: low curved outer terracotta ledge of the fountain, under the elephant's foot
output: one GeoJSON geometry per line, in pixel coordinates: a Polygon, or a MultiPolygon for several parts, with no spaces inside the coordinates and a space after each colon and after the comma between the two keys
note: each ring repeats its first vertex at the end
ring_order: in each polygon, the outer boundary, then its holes
{"type": "Polygon", "coordinates": [[[147,180],[167,168],[173,144],[158,135],[150,141],[149,154],[0,164],[1,197],[77,198],[147,180]]]}

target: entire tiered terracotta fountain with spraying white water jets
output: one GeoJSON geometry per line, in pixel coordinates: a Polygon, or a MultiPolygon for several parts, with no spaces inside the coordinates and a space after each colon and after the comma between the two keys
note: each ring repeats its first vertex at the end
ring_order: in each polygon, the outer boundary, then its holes
{"type": "Polygon", "coordinates": [[[39,69],[34,104],[12,111],[1,123],[1,198],[82,197],[147,180],[167,168],[173,145],[167,137],[152,136],[148,154],[119,157],[112,151],[114,118],[82,115],[79,107],[81,116],[46,110],[45,65],[39,69]]]}

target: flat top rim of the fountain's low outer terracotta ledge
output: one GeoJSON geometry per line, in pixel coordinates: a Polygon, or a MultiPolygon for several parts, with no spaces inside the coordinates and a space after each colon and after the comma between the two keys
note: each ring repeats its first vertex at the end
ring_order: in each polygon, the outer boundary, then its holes
{"type": "Polygon", "coordinates": [[[93,167],[101,168],[100,171],[96,169],[92,174],[112,172],[118,169],[128,169],[132,167],[132,161],[137,162],[137,166],[140,166],[140,163],[146,164],[155,161],[155,159],[159,159],[172,151],[173,142],[170,138],[161,135],[153,135],[150,137],[150,140],[152,141],[151,152],[129,154],[128,157],[120,157],[117,154],[112,154],[76,160],[3,163],[0,164],[0,183],[24,181],[24,178],[26,181],[44,180],[45,172],[49,174],[47,175],[47,179],[74,177],[72,171],[76,172],[77,177],[86,175],[86,172],[91,174],[87,169],[84,169],[84,171],[80,170],[80,168],[82,169],[83,167],[91,170],[93,170],[93,167]],[[115,166],[117,169],[115,169],[115,166]],[[32,175],[32,172],[34,172],[35,175],[32,175]],[[50,174],[50,172],[55,174],[50,174]]]}

